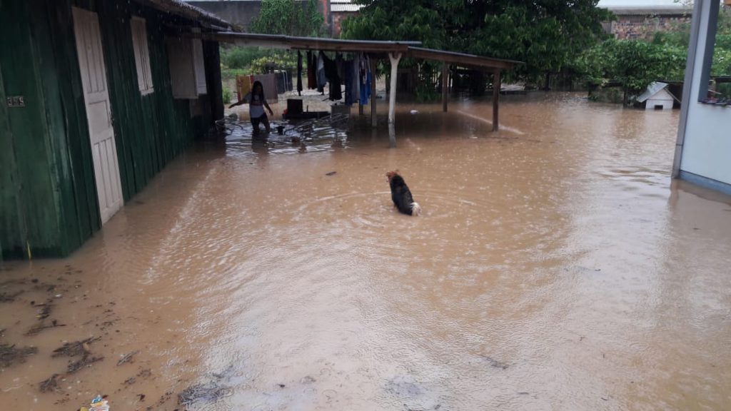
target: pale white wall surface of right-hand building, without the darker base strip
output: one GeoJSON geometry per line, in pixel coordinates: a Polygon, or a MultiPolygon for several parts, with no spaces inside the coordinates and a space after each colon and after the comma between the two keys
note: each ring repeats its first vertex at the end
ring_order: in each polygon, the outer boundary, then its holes
{"type": "MultiPolygon", "coordinates": [[[[701,19],[700,32],[691,93],[683,97],[688,104],[688,113],[680,168],[681,171],[731,184],[731,108],[698,102],[712,1],[717,0],[700,1],[701,12],[694,15],[694,18],[701,19]]],[[[680,127],[682,130],[683,124],[680,127]]]]}

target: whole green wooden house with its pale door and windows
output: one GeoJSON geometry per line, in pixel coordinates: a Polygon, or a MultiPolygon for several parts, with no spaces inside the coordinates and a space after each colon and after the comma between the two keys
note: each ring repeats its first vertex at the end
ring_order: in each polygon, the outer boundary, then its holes
{"type": "Polygon", "coordinates": [[[62,257],[223,116],[228,23],[179,0],[0,0],[0,247],[62,257]]]}

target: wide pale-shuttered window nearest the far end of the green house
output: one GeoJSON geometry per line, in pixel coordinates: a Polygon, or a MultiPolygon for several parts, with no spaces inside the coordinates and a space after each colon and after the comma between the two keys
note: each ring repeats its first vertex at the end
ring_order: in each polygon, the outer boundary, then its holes
{"type": "Polygon", "coordinates": [[[168,37],[167,59],[170,63],[170,83],[176,99],[197,99],[207,93],[205,64],[201,39],[168,37]]]}

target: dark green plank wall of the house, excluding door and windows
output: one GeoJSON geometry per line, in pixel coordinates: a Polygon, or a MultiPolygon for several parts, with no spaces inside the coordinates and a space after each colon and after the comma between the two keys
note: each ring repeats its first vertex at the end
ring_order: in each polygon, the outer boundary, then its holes
{"type": "MultiPolygon", "coordinates": [[[[170,88],[164,36],[193,22],[127,0],[0,0],[0,102],[26,98],[24,108],[0,104],[4,258],[65,256],[101,227],[72,5],[99,15],[125,201],[218,114],[191,118],[189,100],[173,99],[170,88]],[[137,88],[133,14],[147,20],[154,93],[145,96],[137,88]]],[[[201,100],[217,107],[220,94],[201,100]]]]}

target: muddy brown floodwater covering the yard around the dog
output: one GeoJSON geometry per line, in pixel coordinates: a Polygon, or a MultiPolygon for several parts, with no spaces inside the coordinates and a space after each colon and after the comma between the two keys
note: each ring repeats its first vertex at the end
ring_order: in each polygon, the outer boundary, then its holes
{"type": "Polygon", "coordinates": [[[671,182],[678,113],[506,100],[192,148],[4,263],[0,408],[730,410],[731,199],[671,182]]]}

